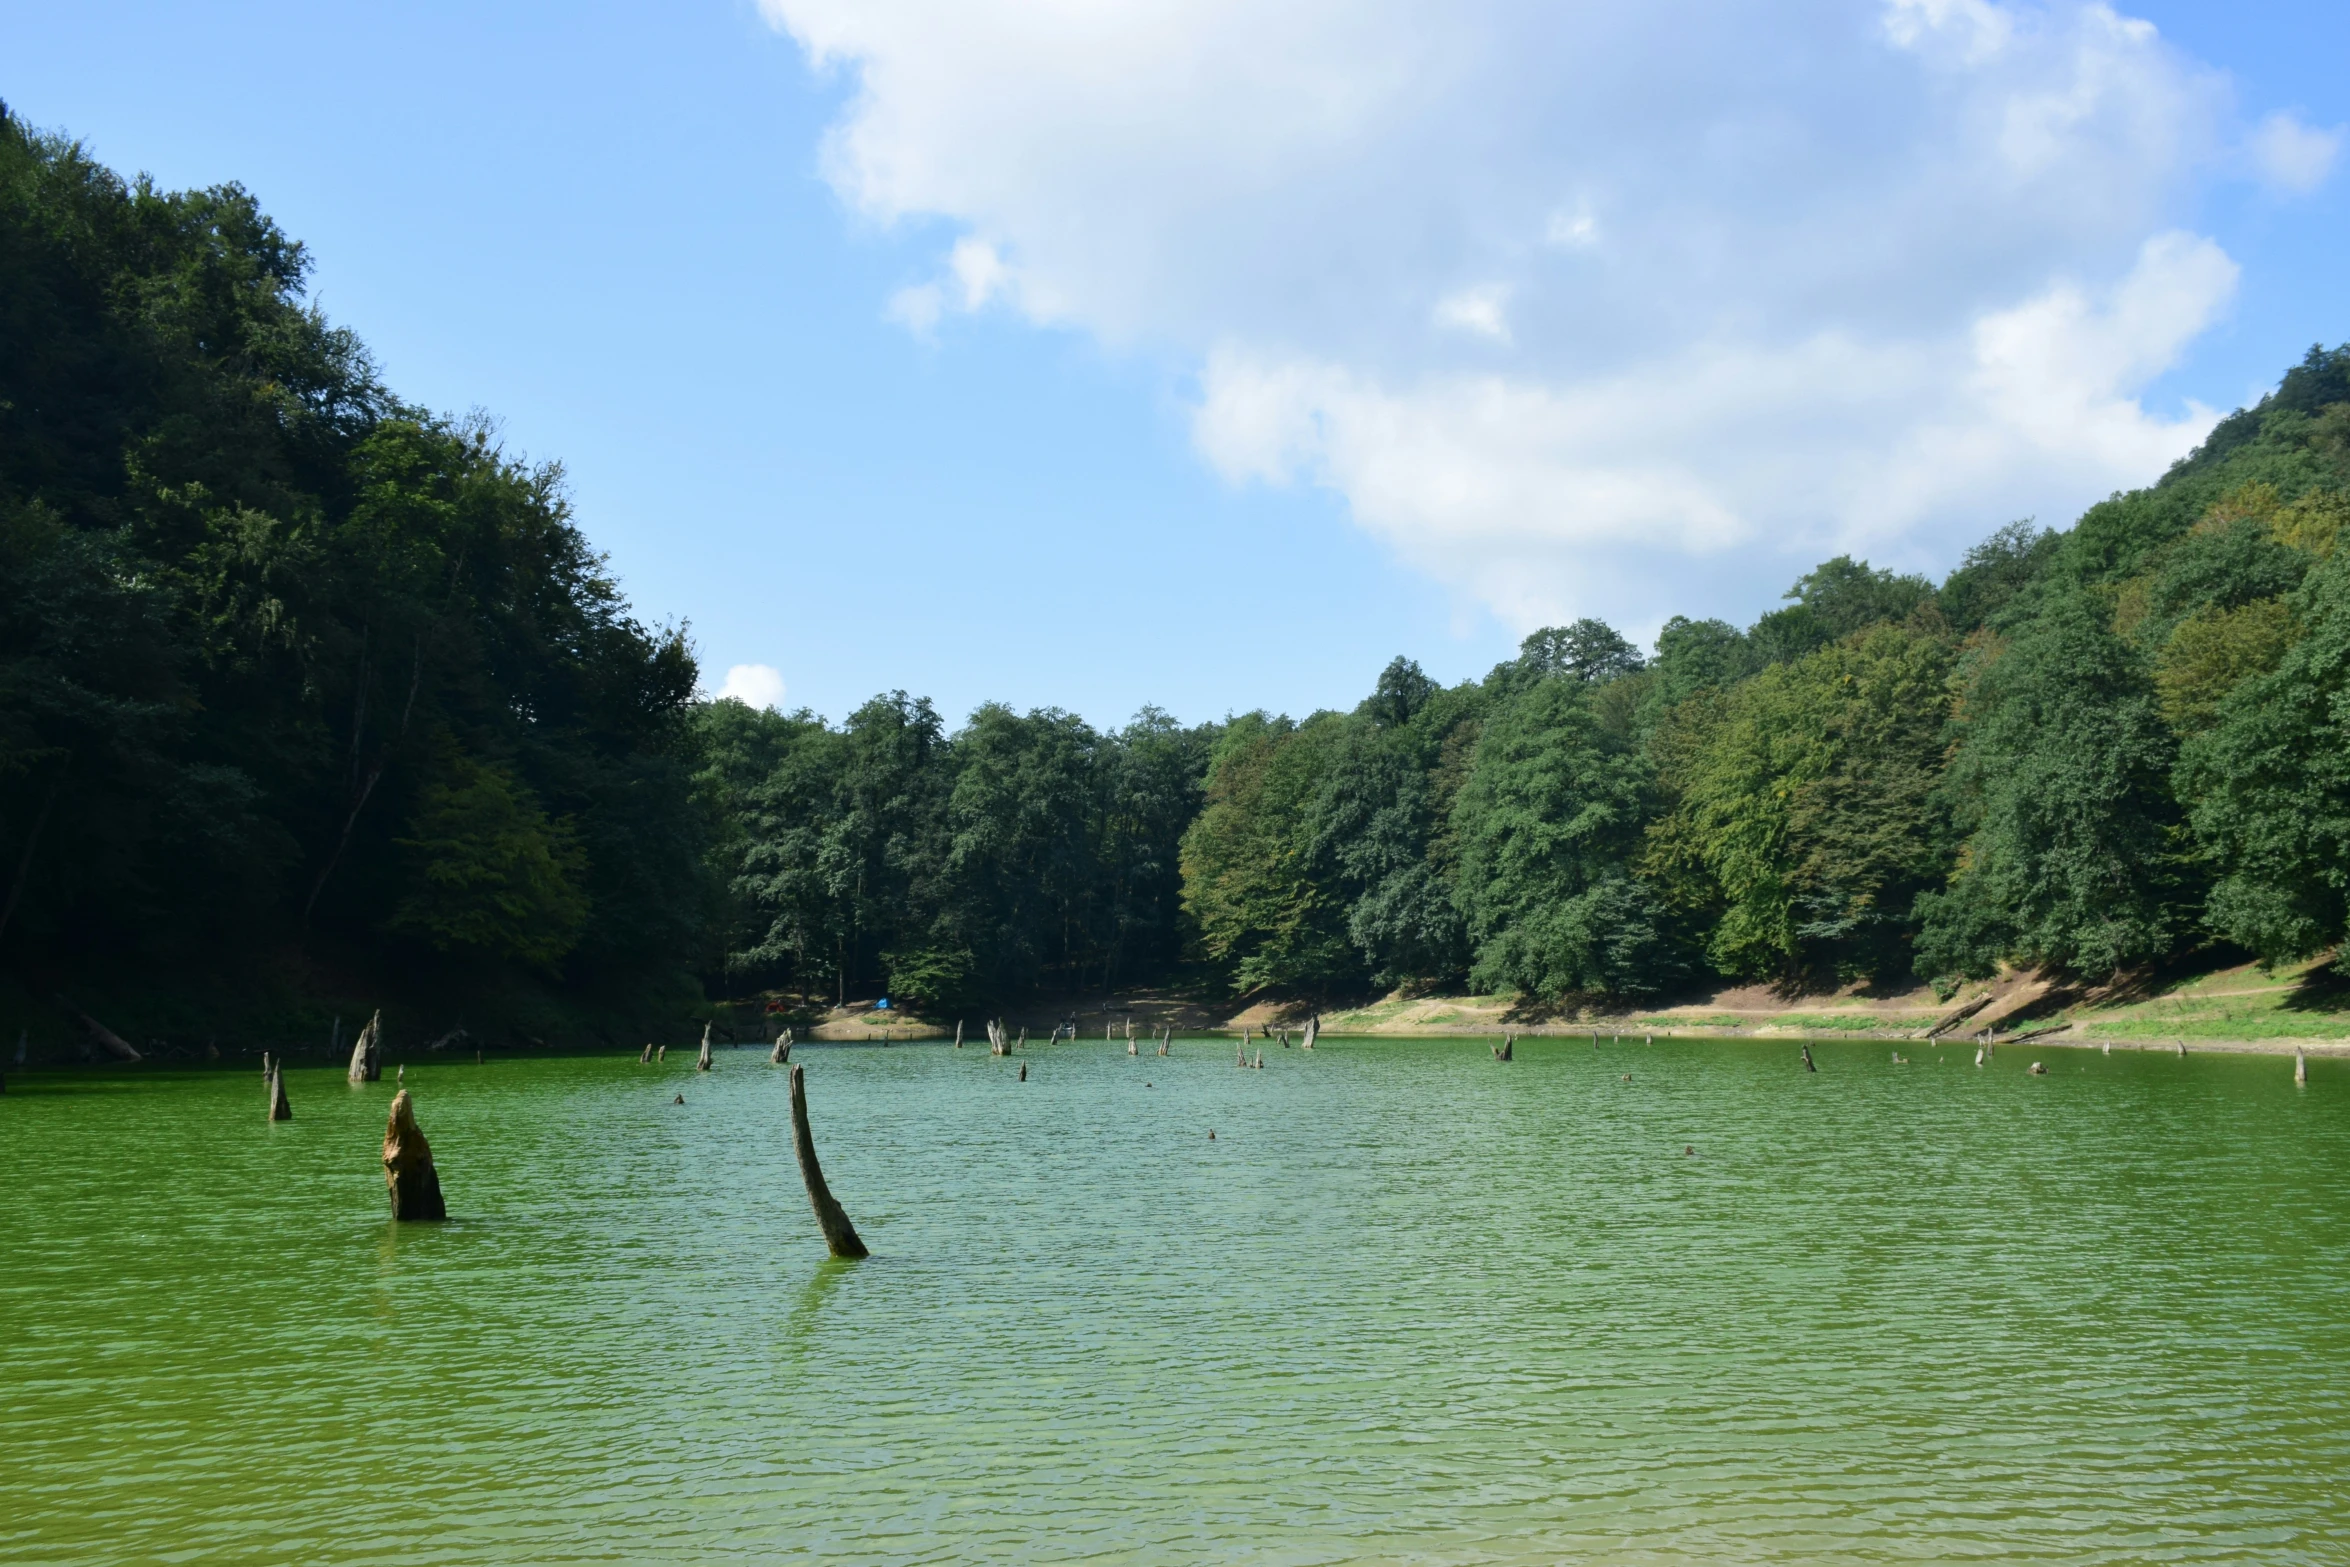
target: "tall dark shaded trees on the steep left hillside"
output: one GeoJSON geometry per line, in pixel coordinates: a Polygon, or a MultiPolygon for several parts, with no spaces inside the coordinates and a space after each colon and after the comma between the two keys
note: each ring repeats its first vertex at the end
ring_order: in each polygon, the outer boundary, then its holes
{"type": "Polygon", "coordinates": [[[306,268],[235,186],[0,117],[0,966],[674,994],[717,890],[684,637],[306,268]]]}

